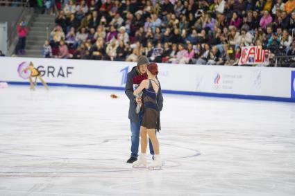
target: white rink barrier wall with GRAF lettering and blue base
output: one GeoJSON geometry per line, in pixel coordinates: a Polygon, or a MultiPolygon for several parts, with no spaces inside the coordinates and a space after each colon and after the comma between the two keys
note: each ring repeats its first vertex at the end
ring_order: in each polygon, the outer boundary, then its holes
{"type": "MultiPolygon", "coordinates": [[[[0,81],[25,84],[19,64],[33,62],[49,86],[124,90],[135,62],[1,57],[0,81]]],[[[158,64],[162,91],[192,96],[295,102],[295,69],[158,64]]]]}

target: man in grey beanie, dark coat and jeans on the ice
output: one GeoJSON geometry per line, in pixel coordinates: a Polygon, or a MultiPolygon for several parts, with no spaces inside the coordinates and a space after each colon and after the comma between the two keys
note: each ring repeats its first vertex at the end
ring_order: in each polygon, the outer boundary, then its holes
{"type": "MultiPolygon", "coordinates": [[[[146,56],[140,56],[137,60],[137,66],[134,66],[133,69],[127,74],[127,81],[125,87],[126,96],[129,98],[129,112],[128,118],[130,119],[130,129],[131,129],[131,155],[127,160],[127,163],[133,163],[137,161],[138,157],[138,146],[140,144],[140,126],[142,123],[142,118],[144,116],[144,112],[141,111],[139,114],[136,114],[135,109],[137,103],[142,103],[141,98],[136,98],[133,95],[133,78],[137,75],[146,74],[146,69],[149,64],[149,60],[146,56]]],[[[157,96],[158,107],[162,110],[163,107],[163,96],[160,91],[157,96]]],[[[149,141],[150,153],[153,152],[153,145],[151,141],[149,141]]]]}

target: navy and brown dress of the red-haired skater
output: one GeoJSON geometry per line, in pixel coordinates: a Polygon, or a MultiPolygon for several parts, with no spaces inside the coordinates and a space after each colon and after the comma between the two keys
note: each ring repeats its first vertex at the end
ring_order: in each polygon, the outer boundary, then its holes
{"type": "MultiPolygon", "coordinates": [[[[155,80],[152,80],[155,82],[155,80]]],[[[158,82],[155,82],[159,87],[158,82]]],[[[160,87],[159,87],[160,89],[160,87]]],[[[142,127],[146,129],[160,130],[160,109],[157,104],[157,93],[153,89],[151,79],[149,79],[149,88],[142,90],[144,100],[144,117],[142,118],[142,127]]]]}

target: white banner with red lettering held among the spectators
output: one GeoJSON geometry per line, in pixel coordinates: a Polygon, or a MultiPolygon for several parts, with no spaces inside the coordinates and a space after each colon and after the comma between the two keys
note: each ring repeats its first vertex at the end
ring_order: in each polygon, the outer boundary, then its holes
{"type": "Polygon", "coordinates": [[[261,46],[242,47],[239,64],[269,65],[269,50],[264,50],[261,46]]]}

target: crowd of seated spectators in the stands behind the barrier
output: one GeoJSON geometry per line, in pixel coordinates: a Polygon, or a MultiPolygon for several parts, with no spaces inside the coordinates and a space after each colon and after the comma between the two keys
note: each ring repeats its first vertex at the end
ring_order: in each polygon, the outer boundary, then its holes
{"type": "Polygon", "coordinates": [[[235,65],[242,46],[294,55],[295,0],[44,1],[44,57],[235,65]],[[54,2],[54,3],[53,3],[54,2]]]}

